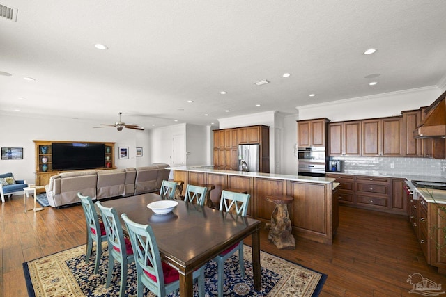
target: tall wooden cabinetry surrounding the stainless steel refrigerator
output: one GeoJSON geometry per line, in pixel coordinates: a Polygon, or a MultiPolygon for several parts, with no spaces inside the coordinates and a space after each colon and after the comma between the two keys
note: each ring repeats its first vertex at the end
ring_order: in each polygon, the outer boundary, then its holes
{"type": "Polygon", "coordinates": [[[260,172],[270,172],[270,127],[256,125],[214,130],[213,133],[214,168],[238,170],[238,145],[259,143],[260,172]]]}

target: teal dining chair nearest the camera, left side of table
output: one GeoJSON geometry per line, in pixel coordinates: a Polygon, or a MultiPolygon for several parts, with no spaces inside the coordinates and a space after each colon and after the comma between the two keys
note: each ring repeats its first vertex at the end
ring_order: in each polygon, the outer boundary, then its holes
{"type": "MultiPolygon", "coordinates": [[[[142,297],[144,287],[147,287],[156,296],[176,291],[180,287],[180,274],[178,271],[161,261],[160,250],[150,225],[141,225],[122,214],[127,226],[130,242],[132,243],[134,261],[137,266],[137,296],[142,297]]],[[[204,266],[194,271],[192,278],[198,280],[199,297],[204,296],[204,266]]]]}

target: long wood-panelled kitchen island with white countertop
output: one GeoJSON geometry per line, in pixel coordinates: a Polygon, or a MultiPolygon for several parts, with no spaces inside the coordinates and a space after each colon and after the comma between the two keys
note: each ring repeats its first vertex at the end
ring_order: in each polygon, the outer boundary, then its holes
{"type": "MultiPolygon", "coordinates": [[[[333,178],[277,175],[261,172],[216,170],[213,166],[180,166],[166,168],[174,172],[175,181],[185,184],[213,184],[213,202],[220,200],[222,190],[237,188],[251,195],[247,215],[269,222],[275,205],[266,201],[268,195],[289,195],[289,216],[296,237],[332,244],[339,223],[337,189],[333,178]]],[[[185,191],[185,186],[183,191],[185,191]]],[[[183,192],[184,195],[184,192],[183,192]]]]}

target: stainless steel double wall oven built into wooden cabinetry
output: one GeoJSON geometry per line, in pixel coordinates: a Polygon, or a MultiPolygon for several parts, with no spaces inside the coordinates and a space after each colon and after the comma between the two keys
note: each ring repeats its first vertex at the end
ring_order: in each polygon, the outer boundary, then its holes
{"type": "Polygon", "coordinates": [[[325,147],[298,147],[298,175],[325,177],[325,147]]]}

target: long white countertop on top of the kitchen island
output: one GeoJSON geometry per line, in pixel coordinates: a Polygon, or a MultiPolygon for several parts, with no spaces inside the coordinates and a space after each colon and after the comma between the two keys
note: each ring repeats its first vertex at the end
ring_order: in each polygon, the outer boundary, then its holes
{"type": "Polygon", "coordinates": [[[213,166],[175,166],[175,167],[167,167],[166,169],[214,173],[222,175],[236,175],[243,177],[264,177],[268,179],[290,180],[293,182],[314,182],[316,184],[330,184],[335,180],[334,178],[331,177],[307,177],[303,175],[278,175],[275,173],[220,170],[220,169],[214,169],[213,166]]]}

